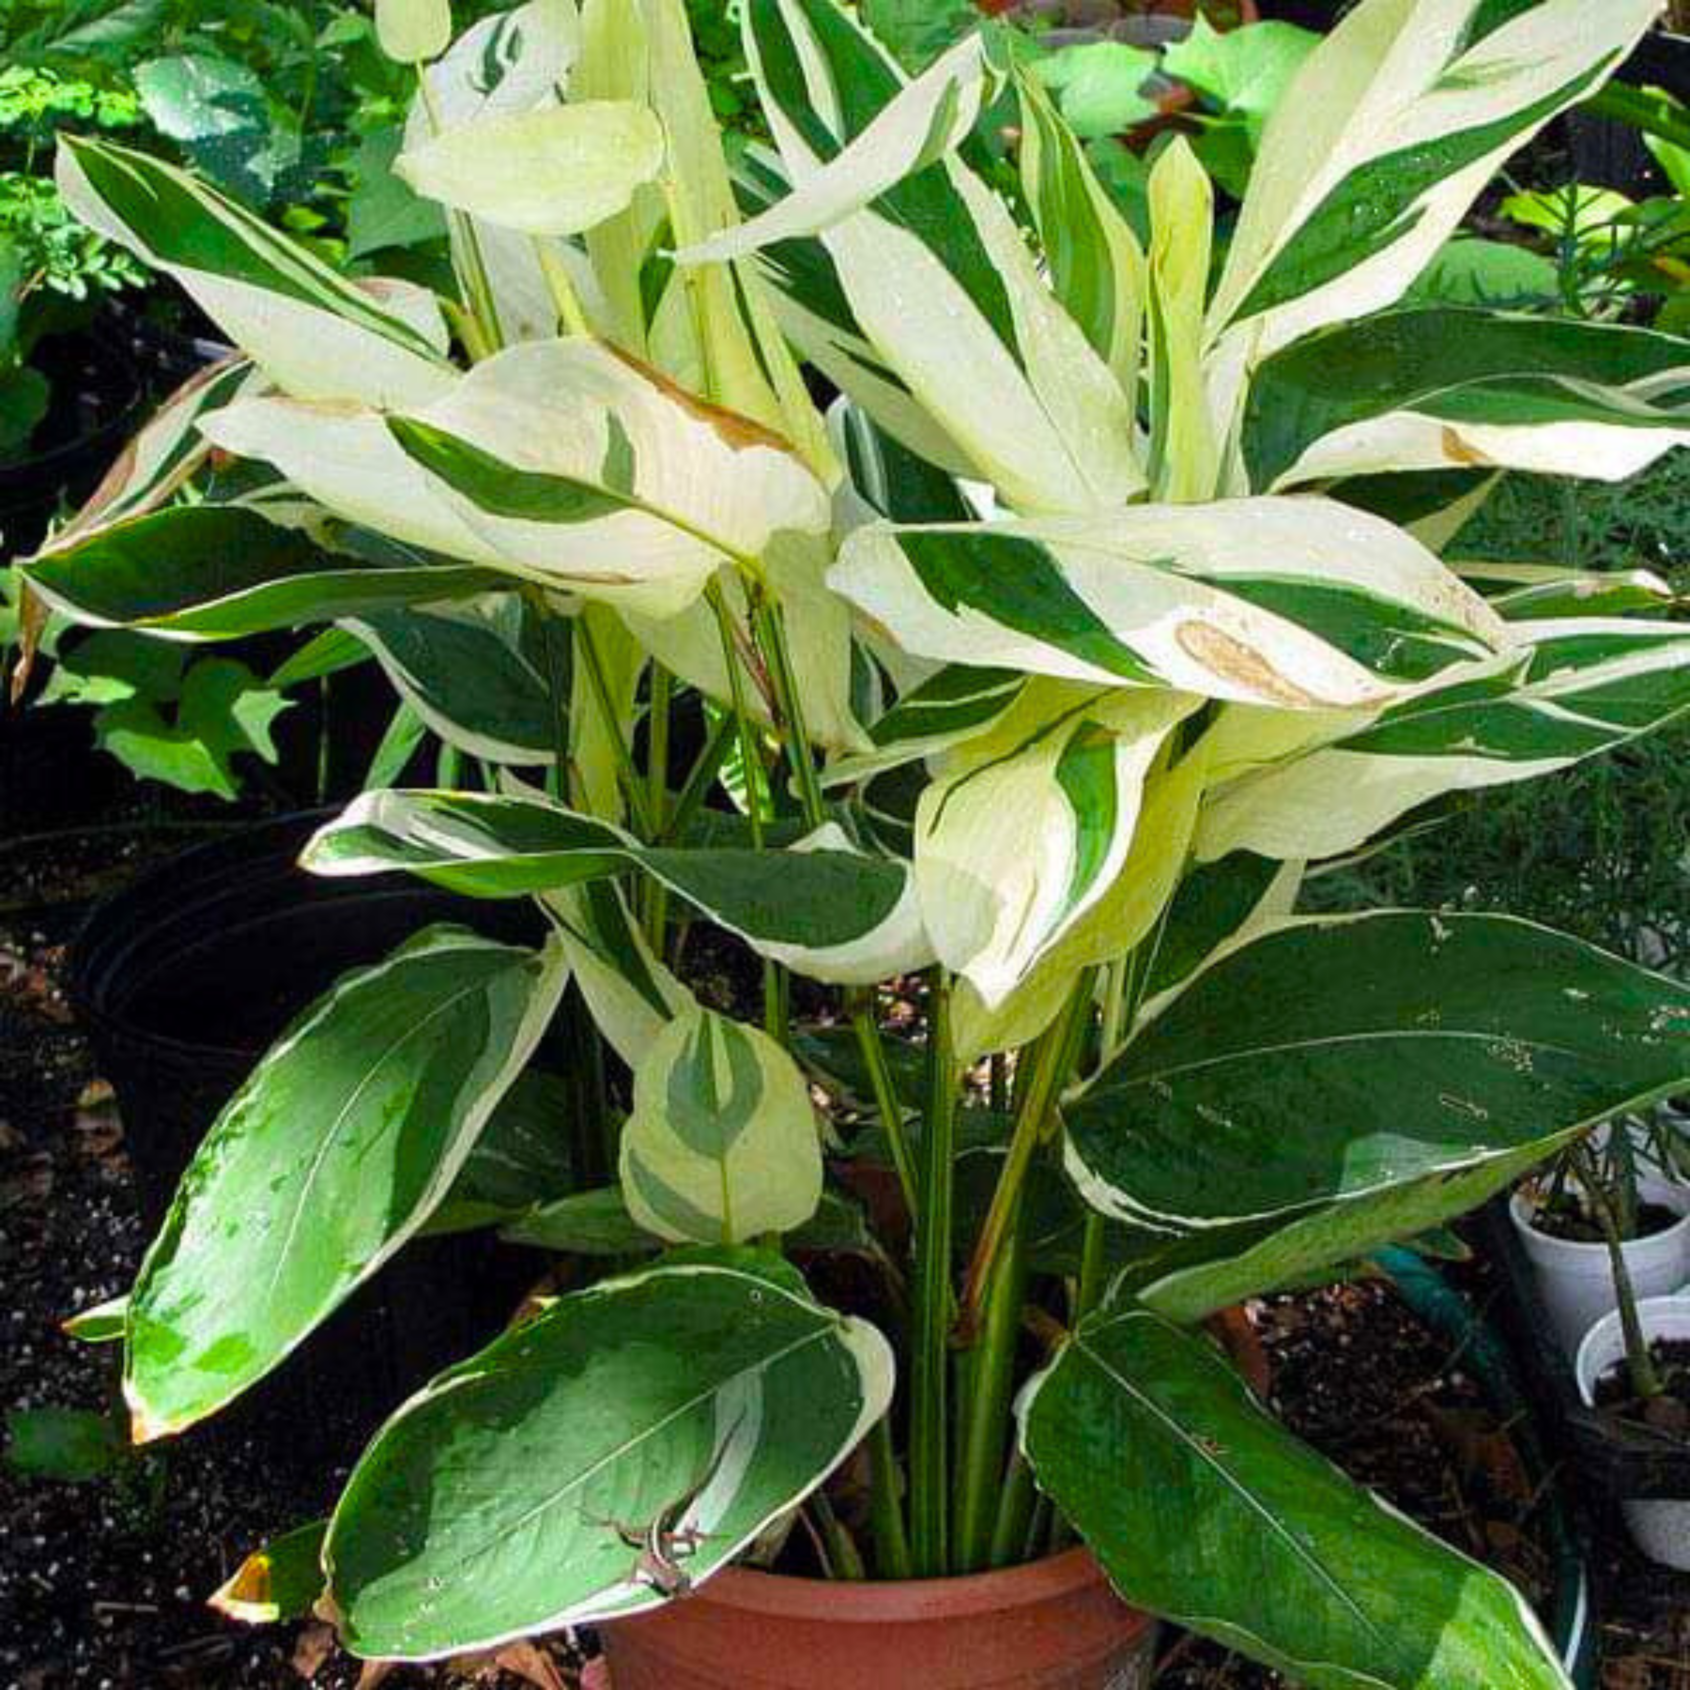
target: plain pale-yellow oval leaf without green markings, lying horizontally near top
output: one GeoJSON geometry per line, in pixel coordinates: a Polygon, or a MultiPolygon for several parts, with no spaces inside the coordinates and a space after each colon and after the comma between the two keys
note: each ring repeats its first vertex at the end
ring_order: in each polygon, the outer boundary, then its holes
{"type": "Polygon", "coordinates": [[[527,235],[615,216],[662,167],[662,127],[630,100],[500,112],[407,147],[399,177],[428,199],[527,235]]]}

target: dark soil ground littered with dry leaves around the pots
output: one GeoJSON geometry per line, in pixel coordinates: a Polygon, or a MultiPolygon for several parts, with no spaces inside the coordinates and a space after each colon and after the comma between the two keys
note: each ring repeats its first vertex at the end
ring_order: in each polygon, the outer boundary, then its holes
{"type": "MultiPolygon", "coordinates": [[[[112,1354],[73,1344],[57,1322],[123,1289],[145,1240],[122,1127],[63,999],[64,946],[88,896],[179,843],[117,831],[73,852],[0,850],[0,1409],[110,1404],[112,1354]]],[[[1278,1408],[1298,1431],[1460,1548],[1541,1587],[1533,1489],[1445,1340],[1377,1284],[1276,1298],[1256,1318],[1278,1408]]],[[[250,1548],[321,1513],[343,1477],[289,1472],[267,1448],[211,1425],[83,1486],[0,1465],[0,1687],[297,1690],[313,1666],[318,1685],[355,1685],[350,1663],[319,1661],[319,1633],[248,1631],[204,1607],[250,1548]]],[[[1612,1553],[1622,1607],[1607,1627],[1604,1690],[1690,1690],[1690,1580],[1612,1553]]],[[[485,1668],[482,1682],[546,1683],[549,1668],[553,1685],[575,1683],[561,1644],[527,1666],[537,1676],[485,1668]]],[[[1279,1682],[1173,1639],[1158,1687],[1279,1682]]]]}

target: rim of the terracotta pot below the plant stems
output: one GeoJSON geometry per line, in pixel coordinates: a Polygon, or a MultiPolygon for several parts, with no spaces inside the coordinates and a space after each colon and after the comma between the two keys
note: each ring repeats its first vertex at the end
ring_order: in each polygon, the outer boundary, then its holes
{"type": "MultiPolygon", "coordinates": [[[[955,1578],[901,1578],[847,1582],[798,1578],[752,1567],[723,1567],[698,1589],[698,1599],[782,1619],[830,1624],[896,1624],[943,1612],[948,1617],[1031,1607],[1107,1584],[1087,1548],[1063,1550],[1022,1567],[1002,1567],[955,1578]]],[[[1139,1611],[1122,1602],[1127,1612],[1139,1611]]],[[[1149,1616],[1141,1616],[1149,1624],[1149,1616]]]]}

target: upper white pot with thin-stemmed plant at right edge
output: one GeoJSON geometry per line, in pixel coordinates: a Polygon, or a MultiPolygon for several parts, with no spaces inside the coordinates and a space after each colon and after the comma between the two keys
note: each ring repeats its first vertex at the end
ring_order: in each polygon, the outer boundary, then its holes
{"type": "Polygon", "coordinates": [[[1621,1122],[1578,1142],[1509,1200],[1555,1338],[1577,1355],[1592,1323],[1631,1295],[1658,1296],[1690,1281],[1687,1141],[1676,1117],[1621,1122]]]}

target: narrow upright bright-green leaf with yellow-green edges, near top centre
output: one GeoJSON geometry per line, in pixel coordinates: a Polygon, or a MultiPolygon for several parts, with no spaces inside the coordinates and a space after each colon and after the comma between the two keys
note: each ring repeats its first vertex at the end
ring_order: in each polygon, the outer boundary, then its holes
{"type": "MultiPolygon", "coordinates": [[[[1016,88],[1021,189],[1044,248],[1051,289],[1114,372],[1131,406],[1142,360],[1144,250],[1039,83],[1017,76],[1016,88]]],[[[892,510],[886,514],[911,521],[892,510]]]]}

